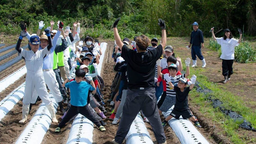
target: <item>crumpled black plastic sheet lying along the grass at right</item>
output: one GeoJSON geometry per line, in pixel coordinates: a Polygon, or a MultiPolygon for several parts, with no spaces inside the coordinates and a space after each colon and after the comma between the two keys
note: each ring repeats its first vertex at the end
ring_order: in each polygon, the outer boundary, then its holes
{"type": "Polygon", "coordinates": [[[250,122],[247,122],[242,115],[238,114],[237,112],[227,110],[225,109],[225,107],[221,106],[222,102],[220,100],[212,99],[211,97],[209,97],[208,99],[212,101],[212,105],[214,108],[219,108],[222,113],[225,113],[226,115],[230,116],[235,122],[243,121],[243,123],[241,123],[239,127],[256,131],[256,129],[252,127],[252,124],[250,122]]]}

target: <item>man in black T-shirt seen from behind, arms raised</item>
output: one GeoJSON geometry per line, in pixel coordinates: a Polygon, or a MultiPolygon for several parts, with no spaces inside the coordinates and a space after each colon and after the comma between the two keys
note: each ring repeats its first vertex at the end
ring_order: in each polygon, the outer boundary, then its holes
{"type": "Polygon", "coordinates": [[[122,47],[121,57],[127,62],[128,90],[123,106],[123,115],[116,132],[114,144],[121,144],[130,130],[131,124],[140,110],[150,121],[156,140],[159,144],[166,144],[164,129],[161,127],[161,119],[158,114],[157,101],[155,97],[155,67],[156,61],[163,54],[166,45],[165,23],[158,20],[162,29],[162,42],[154,50],[146,51],[150,45],[150,39],[146,35],[136,38],[137,52],[128,49],[121,41],[117,25],[120,18],[113,25],[116,44],[122,47]]]}

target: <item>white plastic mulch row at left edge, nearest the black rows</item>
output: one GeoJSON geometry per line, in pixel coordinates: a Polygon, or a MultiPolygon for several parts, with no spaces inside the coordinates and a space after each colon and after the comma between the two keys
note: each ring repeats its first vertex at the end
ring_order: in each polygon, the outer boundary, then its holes
{"type": "Polygon", "coordinates": [[[26,66],[20,68],[19,70],[15,71],[8,77],[4,78],[0,81],[0,92],[7,88],[9,85],[13,84],[16,80],[22,77],[25,73],[27,73],[26,66]]]}

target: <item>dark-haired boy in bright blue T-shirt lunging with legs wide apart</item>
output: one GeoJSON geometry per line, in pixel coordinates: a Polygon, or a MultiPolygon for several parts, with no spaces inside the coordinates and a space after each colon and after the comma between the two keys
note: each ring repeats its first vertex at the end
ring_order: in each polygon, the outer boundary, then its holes
{"type": "Polygon", "coordinates": [[[97,127],[99,127],[100,131],[105,131],[106,129],[90,112],[87,104],[88,91],[92,90],[93,94],[96,92],[92,77],[89,77],[90,79],[88,79],[91,82],[90,85],[88,82],[83,81],[85,76],[85,71],[83,69],[77,69],[75,74],[76,80],[68,82],[69,79],[66,79],[62,85],[63,87],[70,89],[71,106],[65,117],[61,120],[58,127],[55,129],[55,133],[59,133],[61,131],[61,128],[69,121],[69,119],[77,115],[78,113],[85,116],[94,124],[96,124],[97,127]]]}

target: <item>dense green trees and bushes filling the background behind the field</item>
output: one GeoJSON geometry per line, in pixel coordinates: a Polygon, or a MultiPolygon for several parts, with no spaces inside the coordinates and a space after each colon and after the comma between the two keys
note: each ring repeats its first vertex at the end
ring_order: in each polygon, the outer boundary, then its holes
{"type": "MultiPolygon", "coordinates": [[[[165,20],[167,36],[189,36],[194,21],[206,37],[211,36],[213,26],[216,32],[229,28],[236,35],[237,28],[244,25],[247,35],[256,35],[255,7],[253,0],[3,0],[0,32],[18,34],[20,21],[27,23],[28,30],[36,31],[40,20],[62,20],[65,25],[79,20],[85,34],[113,38],[112,23],[121,17],[119,31],[130,38],[141,33],[159,35],[158,18],[165,20]]],[[[217,36],[222,34],[220,31],[217,36]]]]}

